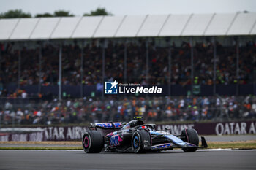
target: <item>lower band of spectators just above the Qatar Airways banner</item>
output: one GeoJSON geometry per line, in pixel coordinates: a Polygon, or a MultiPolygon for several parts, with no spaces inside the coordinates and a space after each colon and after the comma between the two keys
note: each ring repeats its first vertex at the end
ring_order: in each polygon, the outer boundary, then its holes
{"type": "MultiPolygon", "coordinates": [[[[18,100],[18,98],[16,98],[18,100]]],[[[256,118],[256,97],[151,97],[67,99],[66,101],[5,101],[0,125],[52,125],[129,121],[147,122],[246,120],[256,118]],[[16,101],[16,103],[18,103],[16,101]]]]}

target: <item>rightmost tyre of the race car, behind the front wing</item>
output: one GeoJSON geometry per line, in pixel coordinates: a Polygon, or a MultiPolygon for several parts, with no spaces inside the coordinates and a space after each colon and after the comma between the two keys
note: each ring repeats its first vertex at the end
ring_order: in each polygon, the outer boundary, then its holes
{"type": "MultiPolygon", "coordinates": [[[[181,131],[181,139],[183,139],[184,142],[189,142],[190,144],[195,144],[196,146],[199,144],[199,137],[194,128],[186,128],[181,131]]],[[[184,152],[195,152],[197,147],[186,147],[182,148],[182,150],[184,152]]]]}

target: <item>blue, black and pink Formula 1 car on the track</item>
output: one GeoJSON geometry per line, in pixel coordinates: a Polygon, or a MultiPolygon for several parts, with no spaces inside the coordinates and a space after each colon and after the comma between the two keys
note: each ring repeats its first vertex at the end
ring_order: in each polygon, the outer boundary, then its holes
{"type": "Polygon", "coordinates": [[[156,131],[156,125],[144,124],[141,117],[129,123],[91,123],[89,131],[83,135],[83,150],[87,153],[105,152],[154,152],[181,148],[184,152],[195,152],[206,148],[206,139],[199,144],[197,131],[186,128],[181,135],[167,131],[156,131]]]}

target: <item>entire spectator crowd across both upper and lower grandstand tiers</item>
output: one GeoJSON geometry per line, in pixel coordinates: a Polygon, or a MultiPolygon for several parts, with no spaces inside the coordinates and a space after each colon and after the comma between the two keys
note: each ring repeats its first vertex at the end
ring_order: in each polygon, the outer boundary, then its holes
{"type": "MultiPolygon", "coordinates": [[[[169,80],[172,85],[214,83],[214,45],[210,41],[196,42],[193,47],[193,80],[192,50],[187,42],[182,42],[178,46],[173,42],[169,47],[157,45],[153,40],[147,44],[145,40],[138,39],[127,42],[126,47],[124,42],[109,40],[105,45],[104,79],[102,45],[103,43],[97,39],[83,48],[78,42],[62,45],[62,85],[96,85],[102,83],[102,80],[141,85],[167,85],[169,80]]],[[[239,47],[238,69],[236,45],[223,46],[217,42],[216,47],[217,84],[249,84],[255,81],[255,42],[247,42],[246,45],[239,47]]],[[[15,96],[4,90],[4,86],[18,82],[20,85],[58,85],[59,45],[48,42],[42,44],[41,48],[39,45],[23,46],[19,51],[15,44],[8,42],[0,44],[0,50],[0,96],[8,97],[0,102],[0,125],[129,121],[136,115],[152,122],[241,120],[256,117],[255,96],[105,97],[104,100],[95,97],[67,97],[62,101],[42,100],[42,96],[37,96],[39,98],[34,101],[28,98],[29,94],[25,90],[17,89],[15,96]],[[22,102],[19,103],[18,100],[22,102]]]]}

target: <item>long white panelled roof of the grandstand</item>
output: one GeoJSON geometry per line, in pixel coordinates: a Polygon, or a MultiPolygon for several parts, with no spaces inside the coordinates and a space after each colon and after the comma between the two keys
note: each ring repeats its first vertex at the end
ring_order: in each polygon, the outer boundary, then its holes
{"type": "Polygon", "coordinates": [[[256,12],[0,20],[0,40],[255,35],[256,12]]]}

